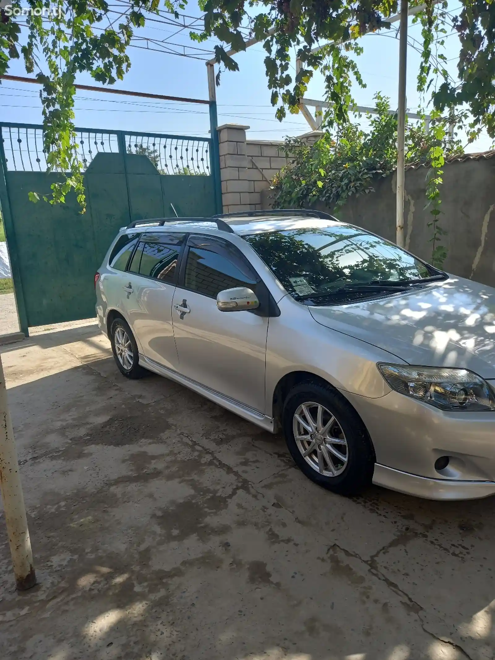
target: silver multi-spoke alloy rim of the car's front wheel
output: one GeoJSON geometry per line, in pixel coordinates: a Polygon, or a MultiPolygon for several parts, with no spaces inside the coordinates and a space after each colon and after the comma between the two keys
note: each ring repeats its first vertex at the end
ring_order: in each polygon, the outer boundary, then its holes
{"type": "Polygon", "coordinates": [[[302,403],[292,422],[294,439],[306,463],[325,477],[337,477],[348,462],[348,447],[341,425],[321,403],[302,403]]]}

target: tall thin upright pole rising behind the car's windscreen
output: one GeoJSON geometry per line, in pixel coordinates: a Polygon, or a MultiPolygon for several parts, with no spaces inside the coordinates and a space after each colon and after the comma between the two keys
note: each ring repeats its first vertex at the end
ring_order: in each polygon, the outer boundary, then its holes
{"type": "Polygon", "coordinates": [[[407,75],[407,0],[401,0],[401,27],[399,42],[399,104],[397,112],[397,238],[399,248],[404,247],[404,143],[406,131],[406,75],[407,75]]]}

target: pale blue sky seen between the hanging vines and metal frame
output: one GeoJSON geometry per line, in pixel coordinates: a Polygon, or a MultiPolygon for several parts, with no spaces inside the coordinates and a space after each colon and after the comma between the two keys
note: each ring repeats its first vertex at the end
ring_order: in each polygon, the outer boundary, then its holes
{"type": "MultiPolygon", "coordinates": [[[[117,19],[119,9],[125,5],[121,0],[110,0],[114,11],[111,20],[117,19]],[[112,4],[112,2],[114,4],[112,4]]],[[[451,0],[449,11],[452,15],[459,7],[459,0],[451,0]]],[[[116,88],[129,89],[170,96],[207,98],[207,74],[205,59],[211,57],[205,51],[211,51],[215,41],[195,44],[189,39],[189,30],[201,26],[201,13],[195,2],[187,5],[181,12],[184,16],[176,21],[172,15],[162,13],[158,19],[136,33],[133,48],[129,48],[132,66],[123,81],[116,83],[116,88]],[[178,24],[176,24],[178,23],[178,24]],[[192,27],[184,27],[192,24],[192,27]],[[182,29],[181,29],[182,28],[182,29]],[[180,31],[178,31],[180,30],[180,31]],[[153,40],[146,42],[145,38],[153,40]],[[164,43],[160,44],[159,42],[164,43]],[[172,45],[174,44],[174,45],[172,45]],[[180,57],[164,53],[163,49],[183,51],[186,47],[189,55],[198,57],[180,57]],[[139,46],[137,48],[136,46],[139,46]],[[147,50],[158,48],[162,52],[147,50]],[[203,50],[193,50],[201,48],[203,50]]],[[[449,73],[457,79],[457,57],[459,40],[457,34],[447,30],[445,53],[449,73]]],[[[397,24],[387,32],[368,34],[362,38],[364,55],[358,58],[358,65],[367,86],[361,89],[354,85],[354,98],[359,105],[372,106],[373,96],[382,92],[391,98],[391,106],[397,106],[397,76],[399,61],[399,40],[397,24]]],[[[420,26],[409,20],[407,106],[414,112],[420,104],[416,92],[416,73],[420,55],[420,26]]],[[[240,123],[250,127],[251,139],[282,140],[285,135],[301,135],[310,130],[302,115],[289,116],[279,123],[275,119],[275,109],[270,104],[270,92],[267,88],[263,59],[265,51],[261,44],[256,44],[245,53],[236,55],[240,71],[222,73],[220,87],[217,88],[218,123],[240,123]]],[[[292,63],[295,66],[295,61],[292,63]]],[[[21,61],[13,61],[9,73],[26,75],[21,61]]],[[[295,71],[294,71],[295,73],[295,71]]],[[[80,75],[77,82],[96,84],[89,75],[80,75]]],[[[323,98],[323,78],[315,74],[310,83],[308,97],[323,98]]],[[[20,121],[40,123],[40,101],[38,89],[33,84],[3,81],[0,86],[1,121],[20,121]]],[[[189,105],[165,101],[149,101],[138,98],[113,96],[81,91],[76,99],[76,123],[81,127],[101,129],[125,129],[160,133],[180,133],[183,135],[207,135],[209,116],[207,106],[189,105]]],[[[366,124],[366,119],[362,119],[366,124]]],[[[482,135],[467,150],[489,149],[491,141],[482,135]]]]}

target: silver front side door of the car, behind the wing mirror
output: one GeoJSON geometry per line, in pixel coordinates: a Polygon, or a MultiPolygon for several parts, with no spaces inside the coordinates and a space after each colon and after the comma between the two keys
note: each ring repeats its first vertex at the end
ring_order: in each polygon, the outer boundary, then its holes
{"type": "Polygon", "coordinates": [[[256,292],[259,278],[229,241],[192,234],[174,293],[179,371],[201,385],[265,413],[269,319],[251,311],[220,312],[216,294],[234,286],[256,292]]]}

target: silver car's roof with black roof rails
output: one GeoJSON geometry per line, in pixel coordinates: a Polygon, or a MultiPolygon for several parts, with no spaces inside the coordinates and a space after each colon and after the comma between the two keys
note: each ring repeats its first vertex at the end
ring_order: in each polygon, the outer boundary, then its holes
{"type": "MultiPolygon", "coordinates": [[[[322,214],[324,215],[324,214],[322,214]]],[[[281,232],[293,229],[304,228],[325,228],[339,225],[341,222],[331,216],[317,217],[304,213],[293,213],[288,211],[286,214],[270,213],[266,214],[257,213],[255,216],[250,215],[228,215],[216,218],[150,218],[149,220],[141,220],[133,222],[127,230],[140,229],[146,231],[170,231],[170,230],[229,230],[230,233],[237,234],[238,236],[249,236],[252,234],[261,234],[265,232],[281,232]],[[222,226],[223,225],[223,226],[222,226]],[[228,225],[228,226],[225,226],[228,225]]],[[[125,228],[123,228],[125,229],[125,228]]]]}

